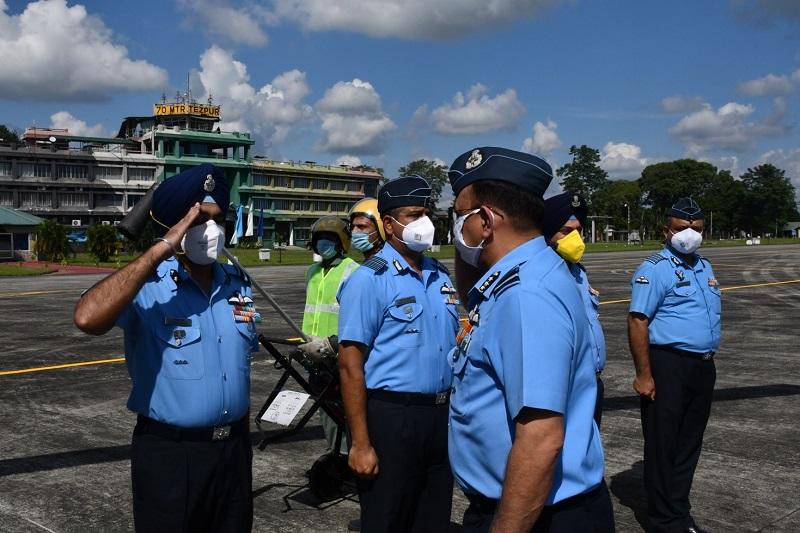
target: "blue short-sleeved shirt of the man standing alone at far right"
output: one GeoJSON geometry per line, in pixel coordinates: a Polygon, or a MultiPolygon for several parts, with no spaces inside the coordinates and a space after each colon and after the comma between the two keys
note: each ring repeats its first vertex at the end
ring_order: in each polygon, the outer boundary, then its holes
{"type": "Polygon", "coordinates": [[[669,246],[651,255],[631,280],[631,313],[650,320],[650,344],[690,352],[716,351],[722,311],[711,263],[697,256],[694,267],[669,246]]]}

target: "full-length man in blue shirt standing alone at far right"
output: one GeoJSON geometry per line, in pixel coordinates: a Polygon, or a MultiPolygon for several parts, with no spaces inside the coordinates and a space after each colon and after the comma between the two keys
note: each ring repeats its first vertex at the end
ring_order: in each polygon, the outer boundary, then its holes
{"type": "Polygon", "coordinates": [[[641,397],[644,482],[655,531],[698,532],[689,491],[716,381],[721,293],[697,253],[703,212],[690,198],[667,214],[665,246],[631,280],[628,342],[641,397]]]}

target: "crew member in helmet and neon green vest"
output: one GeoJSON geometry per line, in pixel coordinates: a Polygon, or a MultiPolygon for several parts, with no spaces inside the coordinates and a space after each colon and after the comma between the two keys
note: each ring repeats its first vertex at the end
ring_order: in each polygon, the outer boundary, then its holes
{"type": "MultiPolygon", "coordinates": [[[[339,326],[339,287],[358,268],[358,263],[347,257],[350,250],[350,230],[347,223],[333,215],[324,216],[311,226],[311,248],[322,261],[312,264],[306,271],[306,306],[303,313],[303,333],[308,342],[299,346],[311,357],[336,356],[336,330],[339,326]],[[333,338],[331,338],[333,337],[333,338]]],[[[319,412],[328,451],[336,446],[336,423],[323,411],[319,412]]],[[[342,439],[341,453],[347,453],[346,439],[342,439]]]]}

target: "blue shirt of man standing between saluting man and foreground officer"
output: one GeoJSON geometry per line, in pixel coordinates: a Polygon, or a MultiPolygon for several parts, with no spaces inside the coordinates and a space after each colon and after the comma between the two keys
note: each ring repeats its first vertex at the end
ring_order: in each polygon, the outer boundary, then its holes
{"type": "Polygon", "coordinates": [[[458,300],[447,271],[422,258],[422,277],[391,244],[339,289],[339,342],[368,347],[368,389],[438,393],[452,381],[458,300]]]}

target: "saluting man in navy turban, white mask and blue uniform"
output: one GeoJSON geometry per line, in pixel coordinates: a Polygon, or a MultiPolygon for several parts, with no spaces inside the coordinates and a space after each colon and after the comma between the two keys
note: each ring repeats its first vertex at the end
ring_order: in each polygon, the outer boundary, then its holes
{"type": "Polygon", "coordinates": [[[229,194],[212,165],[166,180],[150,210],[166,233],[75,308],[81,330],[125,333],[137,531],[251,530],[247,414],[260,316],[247,276],[217,262],[229,194]]]}

